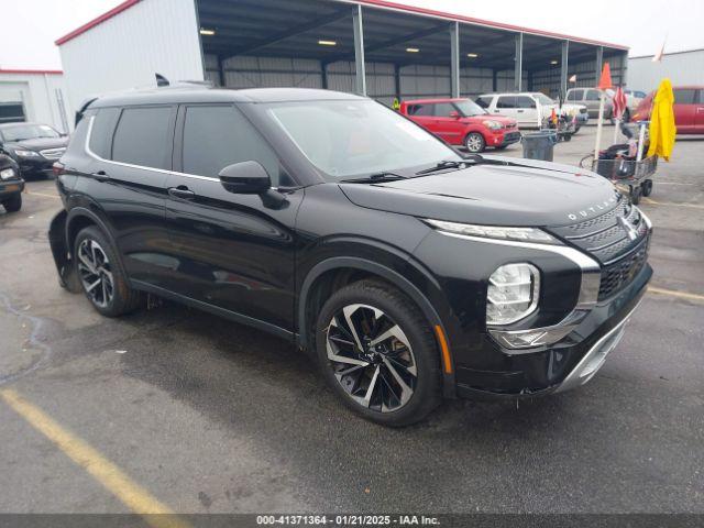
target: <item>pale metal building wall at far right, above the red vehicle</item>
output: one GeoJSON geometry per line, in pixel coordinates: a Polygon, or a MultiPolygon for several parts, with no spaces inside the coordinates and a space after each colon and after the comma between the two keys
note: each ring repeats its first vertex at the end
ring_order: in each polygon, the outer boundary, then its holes
{"type": "Polygon", "coordinates": [[[660,63],[652,57],[628,59],[628,86],[635,90],[654,90],[666,77],[673,86],[704,85],[704,50],[667,54],[660,63]]]}

